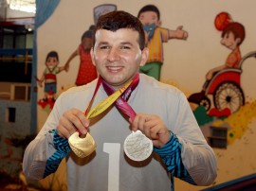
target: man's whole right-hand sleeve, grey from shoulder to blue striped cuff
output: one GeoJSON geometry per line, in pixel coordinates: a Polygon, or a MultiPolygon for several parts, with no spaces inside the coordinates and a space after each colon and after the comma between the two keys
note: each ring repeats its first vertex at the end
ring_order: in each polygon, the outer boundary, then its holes
{"type": "Polygon", "coordinates": [[[186,182],[209,185],[216,178],[216,158],[192,113],[186,96],[180,93],[169,110],[170,141],[155,151],[171,174],[186,182]]]}

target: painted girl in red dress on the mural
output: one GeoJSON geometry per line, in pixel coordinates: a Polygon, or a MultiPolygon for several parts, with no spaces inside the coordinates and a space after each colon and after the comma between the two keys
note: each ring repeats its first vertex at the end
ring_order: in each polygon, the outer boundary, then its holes
{"type": "Polygon", "coordinates": [[[76,79],[77,86],[89,83],[98,77],[96,67],[92,63],[90,55],[90,50],[93,46],[93,29],[94,26],[90,26],[89,29],[82,34],[81,44],[70,55],[65,63],[65,67],[68,69],[70,61],[72,61],[76,56],[80,56],[79,72],[76,79]]]}

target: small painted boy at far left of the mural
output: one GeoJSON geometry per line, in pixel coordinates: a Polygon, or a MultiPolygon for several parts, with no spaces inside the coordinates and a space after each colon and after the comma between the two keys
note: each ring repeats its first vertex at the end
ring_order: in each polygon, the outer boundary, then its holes
{"type": "Polygon", "coordinates": [[[41,79],[38,79],[38,84],[43,87],[45,81],[45,98],[44,101],[48,101],[50,97],[52,101],[55,101],[55,94],[57,91],[57,78],[56,75],[62,71],[66,71],[64,66],[57,67],[59,64],[59,56],[56,51],[50,51],[46,56],[46,69],[41,79]]]}

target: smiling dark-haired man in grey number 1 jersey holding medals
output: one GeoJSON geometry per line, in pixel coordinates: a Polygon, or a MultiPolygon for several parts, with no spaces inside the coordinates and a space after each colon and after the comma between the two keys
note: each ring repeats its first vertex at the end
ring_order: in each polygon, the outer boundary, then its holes
{"type": "Polygon", "coordinates": [[[138,75],[148,57],[144,35],[141,23],[127,12],[100,17],[91,49],[100,77],[59,96],[43,129],[26,149],[28,178],[46,177],[65,157],[70,191],[173,190],[174,176],[198,185],[214,181],[215,156],[186,96],[154,78],[138,75]],[[115,104],[88,119],[88,111],[127,83],[131,85],[115,104]],[[67,139],[77,130],[89,131],[97,144],[85,158],[77,157],[68,146],[67,139]],[[123,142],[131,130],[141,130],[152,140],[154,151],[148,159],[137,162],[124,154],[123,142]]]}

